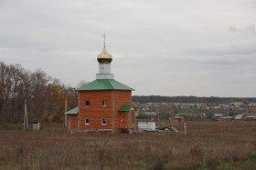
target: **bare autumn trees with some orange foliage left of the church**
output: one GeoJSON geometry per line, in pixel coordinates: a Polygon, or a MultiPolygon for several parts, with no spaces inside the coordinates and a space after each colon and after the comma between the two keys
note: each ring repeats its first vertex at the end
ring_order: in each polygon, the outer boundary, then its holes
{"type": "Polygon", "coordinates": [[[77,99],[75,88],[41,69],[31,72],[0,61],[0,123],[22,122],[25,100],[29,121],[63,122],[65,101],[69,110],[78,105],[77,99]]]}

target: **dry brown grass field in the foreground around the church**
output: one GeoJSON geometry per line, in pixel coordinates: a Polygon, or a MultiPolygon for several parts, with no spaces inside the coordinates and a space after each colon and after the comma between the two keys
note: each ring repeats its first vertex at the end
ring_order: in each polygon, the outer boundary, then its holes
{"type": "Polygon", "coordinates": [[[187,122],[187,135],[41,126],[0,125],[0,169],[256,169],[256,122],[187,122]]]}

